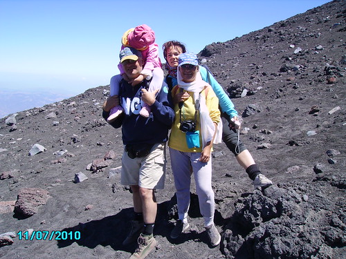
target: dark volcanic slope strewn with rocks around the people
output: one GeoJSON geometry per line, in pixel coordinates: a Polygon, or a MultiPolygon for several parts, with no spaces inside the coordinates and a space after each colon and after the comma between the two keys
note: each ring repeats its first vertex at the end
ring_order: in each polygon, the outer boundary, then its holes
{"type": "MultiPolygon", "coordinates": [[[[233,98],[241,138],[274,184],[254,191],[226,145],[215,146],[222,241],[210,248],[194,186],[190,232],[169,237],[176,207],[168,163],[165,190],[156,193],[159,247],[147,258],[345,258],[345,7],[332,1],[199,53],[233,98]]],[[[101,116],[108,90],[0,120],[1,258],[134,251],[121,245],[132,200],[119,184],[121,131],[101,116]]]]}

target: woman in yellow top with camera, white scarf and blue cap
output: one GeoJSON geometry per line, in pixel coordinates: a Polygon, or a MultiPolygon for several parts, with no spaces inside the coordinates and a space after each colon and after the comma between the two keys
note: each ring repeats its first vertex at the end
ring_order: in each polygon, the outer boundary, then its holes
{"type": "Polygon", "coordinates": [[[221,236],[214,224],[211,152],[213,142],[221,142],[219,99],[211,86],[202,80],[197,56],[190,52],[179,55],[178,85],[172,89],[173,99],[179,92],[187,92],[190,97],[174,105],[175,119],[168,142],[179,214],[170,236],[178,238],[190,227],[188,209],[192,166],[204,226],[210,244],[217,246],[221,236]]]}

